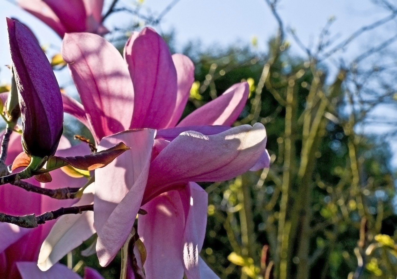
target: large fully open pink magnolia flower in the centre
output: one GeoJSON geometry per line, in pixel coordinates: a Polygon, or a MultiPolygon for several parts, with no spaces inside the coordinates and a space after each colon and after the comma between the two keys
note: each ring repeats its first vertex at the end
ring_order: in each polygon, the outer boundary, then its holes
{"type": "MultiPolygon", "coordinates": [[[[194,66],[185,55],[171,55],[152,29],[132,34],[124,60],[109,42],[89,33],[66,34],[62,55],[83,103],[63,96],[64,111],[91,130],[98,151],[120,141],[132,147],[95,170],[100,264],[114,258],[143,206],[148,214],[138,218],[138,232],[147,249],[147,279],[182,278],[183,273],[189,279],[218,278],[198,256],[207,194],[195,182],[228,180],[268,166],[264,126],[229,127],[247,101],[248,84],[233,85],[177,124],[194,66]]],[[[73,235],[89,237],[87,231],[73,235]]],[[[62,245],[56,245],[56,254],[74,248],[62,245]]],[[[46,249],[41,253],[52,255],[46,249]]]]}

